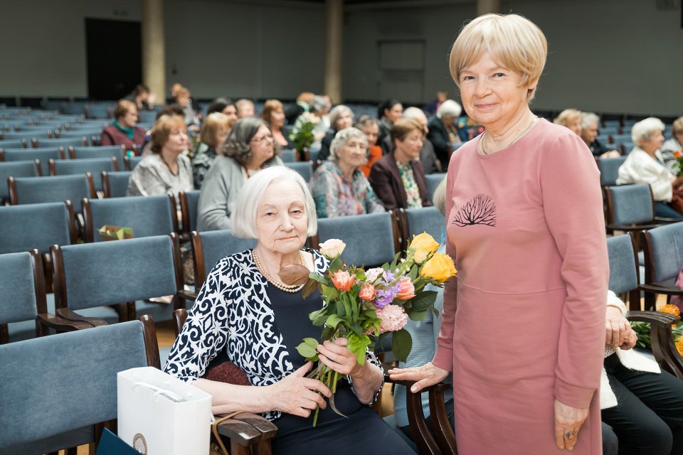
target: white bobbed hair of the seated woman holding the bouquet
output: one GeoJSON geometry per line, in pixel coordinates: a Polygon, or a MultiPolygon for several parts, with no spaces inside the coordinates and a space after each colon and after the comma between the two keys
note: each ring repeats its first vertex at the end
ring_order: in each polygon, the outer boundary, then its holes
{"type": "Polygon", "coordinates": [[[235,201],[235,210],[230,217],[230,230],[236,237],[245,239],[257,238],[256,215],[263,193],[276,181],[295,182],[304,193],[304,207],[308,217],[307,235],[318,232],[318,218],[315,214],[315,203],[304,178],[287,166],[270,166],[259,171],[244,184],[235,201]]]}

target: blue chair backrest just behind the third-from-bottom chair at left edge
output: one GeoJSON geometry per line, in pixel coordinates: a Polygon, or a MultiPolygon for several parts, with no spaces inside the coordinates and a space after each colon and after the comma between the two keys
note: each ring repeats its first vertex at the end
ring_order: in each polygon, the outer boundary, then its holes
{"type": "Polygon", "coordinates": [[[12,205],[70,200],[77,207],[75,204],[79,200],[96,196],[90,173],[85,176],[10,177],[8,181],[12,205]]]}

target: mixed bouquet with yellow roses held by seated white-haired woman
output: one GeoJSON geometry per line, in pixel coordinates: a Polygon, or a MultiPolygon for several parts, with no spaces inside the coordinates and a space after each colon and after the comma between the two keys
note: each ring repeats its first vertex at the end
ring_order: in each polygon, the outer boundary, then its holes
{"type": "MultiPolygon", "coordinates": [[[[368,348],[374,348],[383,334],[391,333],[393,355],[405,362],[413,340],[403,327],[408,318],[421,321],[428,311],[438,316],[433,306],[437,293],[424,287],[442,286],[455,276],[453,260],[436,252],[439,244],[427,233],[413,237],[405,257],[398,253],[391,264],[369,270],[344,264],[339,259],[344,247],[344,242],[337,239],[320,245],[320,252],[331,260],[329,269],[324,275],[309,274],[302,294],[308,296],[316,288],[322,294],[324,306],[309,314],[314,326],[323,326],[322,339],[305,338],[297,350],[306,360],[317,361],[319,343],[344,337],[348,340],[347,348],[364,365],[368,348]]],[[[334,407],[339,373],[318,363],[309,377],[324,382],[332,390],[330,406],[339,413],[334,407]]],[[[316,420],[317,410],[313,426],[316,420]]]]}

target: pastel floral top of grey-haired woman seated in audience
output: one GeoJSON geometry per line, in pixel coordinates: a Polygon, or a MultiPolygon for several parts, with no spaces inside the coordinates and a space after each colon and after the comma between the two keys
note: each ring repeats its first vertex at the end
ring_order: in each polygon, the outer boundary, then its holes
{"type": "Polygon", "coordinates": [[[334,161],[325,161],[315,170],[311,193],[318,218],[384,211],[366,176],[356,169],[349,181],[334,161]]]}

